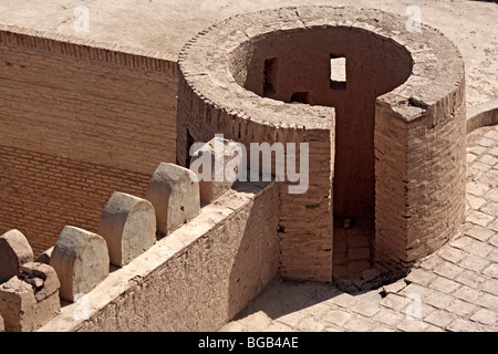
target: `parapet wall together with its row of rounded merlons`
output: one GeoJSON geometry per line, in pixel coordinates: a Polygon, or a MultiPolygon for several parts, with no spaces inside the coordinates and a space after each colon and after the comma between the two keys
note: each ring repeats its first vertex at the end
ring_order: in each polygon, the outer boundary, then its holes
{"type": "Polygon", "coordinates": [[[102,211],[104,237],[66,226],[55,246],[37,260],[45,264],[29,263],[33,256],[21,232],[3,235],[1,252],[9,257],[2,261],[11,269],[6,277],[12,277],[0,287],[6,329],[211,331],[230,321],[277,275],[274,183],[236,184],[200,210],[197,176],[184,167],[160,164],[151,186],[147,197],[153,201],[113,194],[102,211]],[[158,212],[174,220],[167,232],[159,230],[158,212]],[[15,300],[12,292],[23,294],[21,308],[9,305],[15,300]],[[162,301],[154,301],[157,296],[162,301]],[[124,299],[126,304],[114,313],[114,304],[124,299]],[[137,316],[138,308],[149,315],[137,316]]]}

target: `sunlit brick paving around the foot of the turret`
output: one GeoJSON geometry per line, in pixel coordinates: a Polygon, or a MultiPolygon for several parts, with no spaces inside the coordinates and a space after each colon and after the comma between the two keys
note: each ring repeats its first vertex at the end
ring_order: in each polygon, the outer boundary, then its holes
{"type": "Polygon", "coordinates": [[[498,125],[468,136],[467,218],[395,283],[345,293],[274,281],[221,331],[498,331],[498,125]]]}

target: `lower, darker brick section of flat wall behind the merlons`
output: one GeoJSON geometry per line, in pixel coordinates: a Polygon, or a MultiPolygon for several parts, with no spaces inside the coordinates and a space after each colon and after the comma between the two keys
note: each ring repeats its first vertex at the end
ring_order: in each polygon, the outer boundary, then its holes
{"type": "Polygon", "coordinates": [[[0,146],[0,228],[23,230],[35,254],[53,246],[66,225],[96,231],[114,190],[145,196],[151,178],[9,146],[0,146]]]}

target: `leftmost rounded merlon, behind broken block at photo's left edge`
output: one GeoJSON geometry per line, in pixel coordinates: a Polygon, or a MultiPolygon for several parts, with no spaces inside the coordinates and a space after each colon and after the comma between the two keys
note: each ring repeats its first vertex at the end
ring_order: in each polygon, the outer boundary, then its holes
{"type": "Polygon", "coordinates": [[[21,266],[33,261],[33,250],[19,230],[0,236],[0,282],[17,275],[21,266]]]}

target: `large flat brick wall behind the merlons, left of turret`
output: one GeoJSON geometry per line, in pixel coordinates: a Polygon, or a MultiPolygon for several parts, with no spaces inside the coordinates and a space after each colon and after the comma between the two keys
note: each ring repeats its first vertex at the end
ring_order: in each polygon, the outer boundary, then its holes
{"type": "Polygon", "coordinates": [[[66,223],[96,231],[114,190],[143,197],[175,162],[176,63],[131,52],[0,28],[0,233],[38,254],[66,223]]]}

